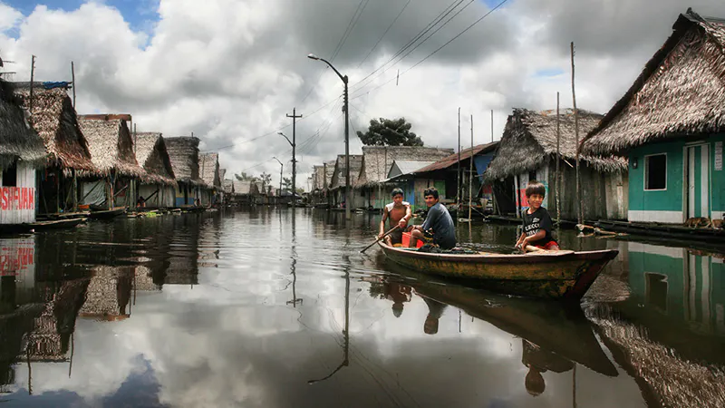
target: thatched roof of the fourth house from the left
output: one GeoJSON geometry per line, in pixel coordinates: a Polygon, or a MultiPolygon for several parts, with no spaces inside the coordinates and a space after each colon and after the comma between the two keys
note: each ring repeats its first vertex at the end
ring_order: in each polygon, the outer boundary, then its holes
{"type": "Polygon", "coordinates": [[[174,170],[171,167],[169,151],[160,132],[140,131],[136,138],[136,160],[146,171],[143,181],[175,186],[174,170]]]}

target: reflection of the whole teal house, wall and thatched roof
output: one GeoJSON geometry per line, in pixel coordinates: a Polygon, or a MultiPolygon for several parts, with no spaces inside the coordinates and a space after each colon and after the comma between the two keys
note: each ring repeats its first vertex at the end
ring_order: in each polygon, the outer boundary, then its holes
{"type": "Polygon", "coordinates": [[[722,255],[629,242],[630,299],[585,305],[651,406],[725,406],[722,255]]]}

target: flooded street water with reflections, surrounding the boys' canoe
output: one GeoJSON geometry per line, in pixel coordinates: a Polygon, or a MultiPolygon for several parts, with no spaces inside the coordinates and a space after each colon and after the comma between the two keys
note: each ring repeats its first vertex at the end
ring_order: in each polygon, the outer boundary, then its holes
{"type": "MultiPolygon", "coordinates": [[[[361,254],[379,215],[297,209],[92,222],[2,239],[3,406],[725,406],[718,248],[619,257],[581,306],[361,254]]],[[[513,245],[514,226],[459,226],[513,245]]],[[[481,245],[486,243],[486,245],[481,245]]]]}

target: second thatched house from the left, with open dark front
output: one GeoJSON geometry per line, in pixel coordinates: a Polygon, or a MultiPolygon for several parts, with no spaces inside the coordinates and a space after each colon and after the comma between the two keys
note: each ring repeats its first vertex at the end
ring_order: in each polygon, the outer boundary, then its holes
{"type": "Polygon", "coordinates": [[[96,179],[102,177],[91,160],[88,142],[68,92],[55,85],[34,83],[32,103],[29,83],[20,83],[16,89],[23,107],[30,112],[31,125],[43,139],[48,152],[45,167],[36,173],[39,215],[77,210],[82,198],[78,174],[96,179]]]}

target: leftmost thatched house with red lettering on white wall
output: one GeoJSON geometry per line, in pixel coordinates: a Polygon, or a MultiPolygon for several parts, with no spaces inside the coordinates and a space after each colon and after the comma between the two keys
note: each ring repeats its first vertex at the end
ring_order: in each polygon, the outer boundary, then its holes
{"type": "Polygon", "coordinates": [[[0,227],[35,221],[35,172],[46,156],[13,85],[0,80],[0,227]]]}

